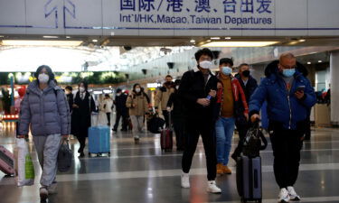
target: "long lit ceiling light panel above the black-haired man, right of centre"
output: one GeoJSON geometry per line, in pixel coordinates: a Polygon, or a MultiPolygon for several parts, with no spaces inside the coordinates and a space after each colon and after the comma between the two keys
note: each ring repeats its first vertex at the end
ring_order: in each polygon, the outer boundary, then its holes
{"type": "Polygon", "coordinates": [[[202,47],[264,47],[278,42],[209,42],[202,47]]]}

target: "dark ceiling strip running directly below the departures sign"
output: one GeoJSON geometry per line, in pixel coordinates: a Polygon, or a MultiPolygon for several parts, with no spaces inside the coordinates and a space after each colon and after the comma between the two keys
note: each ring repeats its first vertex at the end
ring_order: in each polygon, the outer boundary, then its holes
{"type": "MultiPolygon", "coordinates": [[[[80,40],[82,46],[200,46],[203,43],[211,41],[210,37],[182,36],[182,37],[161,37],[161,36],[65,36],[56,35],[57,39],[50,40],[80,40]],[[94,40],[94,42],[93,42],[94,40]]],[[[275,46],[339,46],[338,36],[323,37],[304,37],[304,36],[282,36],[282,37],[230,37],[215,36],[221,40],[212,40],[212,42],[262,42],[274,41],[278,42],[275,46]],[[228,40],[225,40],[225,37],[228,40]],[[231,38],[231,39],[229,39],[231,38]],[[300,41],[301,40],[301,41],[300,41]],[[305,40],[305,42],[303,41],[305,40]]],[[[2,40],[46,40],[42,35],[1,35],[2,40]]]]}

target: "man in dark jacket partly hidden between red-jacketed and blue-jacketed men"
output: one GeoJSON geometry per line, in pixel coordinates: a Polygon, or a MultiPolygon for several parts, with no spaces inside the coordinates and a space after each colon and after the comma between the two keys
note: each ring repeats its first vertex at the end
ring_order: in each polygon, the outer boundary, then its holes
{"type": "MultiPolygon", "coordinates": [[[[245,93],[246,103],[249,104],[250,96],[253,94],[254,90],[258,88],[257,80],[250,76],[249,64],[247,63],[240,64],[239,73],[235,75],[235,78],[239,80],[240,86],[245,93]]],[[[249,125],[237,124],[237,130],[239,132],[240,139],[239,139],[237,148],[234,150],[234,152],[231,155],[231,158],[235,161],[237,161],[237,157],[240,156],[240,153],[242,151],[243,139],[246,136],[247,131],[249,130],[249,125]]]]}

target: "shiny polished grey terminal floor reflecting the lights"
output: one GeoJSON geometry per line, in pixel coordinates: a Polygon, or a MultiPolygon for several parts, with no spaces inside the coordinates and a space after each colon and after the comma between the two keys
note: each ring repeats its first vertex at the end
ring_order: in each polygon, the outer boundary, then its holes
{"type": "MultiPolygon", "coordinates": [[[[0,144],[14,148],[14,125],[7,124],[0,133],[0,144]]],[[[237,143],[233,139],[233,146],[237,143]]],[[[41,173],[30,147],[36,171],[35,184],[17,188],[14,178],[0,171],[0,203],[40,202],[38,189],[41,173]]],[[[165,203],[165,202],[240,202],[236,189],[235,162],[231,160],[231,175],[217,178],[221,194],[208,194],[205,157],[202,142],[193,158],[191,189],[180,187],[182,152],[161,152],[159,134],[142,134],[135,144],[131,133],[111,134],[111,156],[78,158],[79,144],[71,139],[74,160],[71,171],[58,173],[58,194],[49,202],[61,203],[165,203]]],[[[278,186],[273,175],[270,144],[261,152],[263,171],[263,202],[277,202],[278,186]]],[[[311,141],[304,143],[300,172],[295,186],[301,202],[339,202],[339,130],[316,128],[311,141]]]]}

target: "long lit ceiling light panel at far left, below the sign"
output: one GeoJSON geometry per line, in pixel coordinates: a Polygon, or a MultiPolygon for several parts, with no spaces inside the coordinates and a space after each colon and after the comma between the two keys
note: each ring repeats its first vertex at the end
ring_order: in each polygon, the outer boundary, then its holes
{"type": "Polygon", "coordinates": [[[4,46],[79,46],[81,43],[82,41],[2,41],[4,46]]]}

